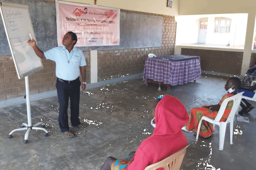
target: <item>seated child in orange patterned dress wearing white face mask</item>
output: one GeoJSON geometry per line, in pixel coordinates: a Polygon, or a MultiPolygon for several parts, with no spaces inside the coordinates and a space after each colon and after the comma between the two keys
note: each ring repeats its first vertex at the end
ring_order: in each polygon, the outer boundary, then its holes
{"type": "MultiPolygon", "coordinates": [[[[210,117],[212,119],[215,119],[218,111],[221,107],[222,102],[237,94],[237,89],[241,87],[241,80],[237,77],[231,77],[227,80],[226,85],[224,86],[225,90],[227,91],[227,94],[224,94],[222,96],[221,101],[217,105],[204,105],[201,108],[192,108],[189,115],[189,122],[186,124],[186,130],[193,131],[195,134],[198,130],[198,124],[203,116],[210,117]]],[[[227,107],[224,111],[224,114],[221,118],[221,122],[225,122],[227,120],[227,117],[230,114],[230,111],[233,107],[233,101],[229,101],[227,103],[227,107]]],[[[212,136],[212,133],[214,133],[212,124],[203,120],[199,136],[204,138],[209,138],[212,136]]]]}

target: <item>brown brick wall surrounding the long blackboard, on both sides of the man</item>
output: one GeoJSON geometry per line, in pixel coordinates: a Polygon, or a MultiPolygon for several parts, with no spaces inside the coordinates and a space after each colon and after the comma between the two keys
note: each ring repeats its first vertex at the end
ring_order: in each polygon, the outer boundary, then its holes
{"type": "MultiPolygon", "coordinates": [[[[157,15],[136,11],[125,12],[157,15]]],[[[163,16],[161,47],[98,51],[98,81],[143,73],[145,58],[149,53],[157,56],[174,54],[176,22],[173,16],[163,16]]],[[[87,62],[87,83],[90,83],[90,51],[84,51],[87,62]]],[[[37,94],[55,90],[55,62],[42,59],[44,68],[29,75],[29,92],[37,94]]],[[[26,95],[25,79],[18,79],[12,56],[0,56],[0,100],[26,95]]]]}

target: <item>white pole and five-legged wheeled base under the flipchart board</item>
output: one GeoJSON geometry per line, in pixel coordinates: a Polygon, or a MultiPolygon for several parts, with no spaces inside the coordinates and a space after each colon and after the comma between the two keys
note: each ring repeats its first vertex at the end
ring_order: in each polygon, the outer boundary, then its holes
{"type": "Polygon", "coordinates": [[[23,123],[20,128],[12,130],[11,133],[9,133],[9,135],[7,136],[8,138],[12,138],[12,133],[15,131],[20,131],[20,130],[27,130],[25,133],[25,138],[23,140],[23,143],[27,143],[28,142],[28,138],[29,138],[29,132],[32,129],[35,130],[44,130],[44,136],[47,137],[48,136],[48,131],[44,128],[45,124],[43,122],[38,122],[35,125],[32,125],[31,122],[31,109],[30,109],[30,97],[29,97],[29,77],[26,76],[25,77],[25,85],[26,85],[26,106],[27,106],[27,115],[28,115],[28,123],[23,123]],[[41,125],[41,127],[36,127],[38,125],[41,125]]]}

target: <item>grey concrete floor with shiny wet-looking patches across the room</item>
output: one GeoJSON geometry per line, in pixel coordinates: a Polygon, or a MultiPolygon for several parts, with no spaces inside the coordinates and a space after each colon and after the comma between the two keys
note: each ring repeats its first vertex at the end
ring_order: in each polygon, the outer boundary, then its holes
{"type": "MultiPolygon", "coordinates": [[[[169,91],[164,87],[157,91],[157,86],[145,86],[142,79],[134,79],[81,91],[80,120],[90,125],[81,130],[71,128],[76,133],[72,139],[59,130],[57,96],[31,102],[32,124],[46,123],[50,136],[32,130],[27,144],[22,143],[25,131],[7,138],[27,122],[26,104],[0,108],[0,170],[99,170],[108,156],[127,156],[152,134],[150,114],[157,96],[177,97],[189,113],[192,107],[217,104],[226,93],[227,79],[204,75],[169,91]]],[[[223,151],[218,149],[217,126],[212,137],[199,138],[198,142],[193,133],[185,133],[191,145],[181,170],[255,170],[256,109],[247,116],[250,123],[235,120],[233,145],[229,143],[228,126],[223,151]]]]}

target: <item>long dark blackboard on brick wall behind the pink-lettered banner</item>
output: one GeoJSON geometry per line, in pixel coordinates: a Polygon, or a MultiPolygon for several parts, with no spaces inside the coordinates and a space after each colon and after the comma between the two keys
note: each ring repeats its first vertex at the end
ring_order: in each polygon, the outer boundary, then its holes
{"type": "MultiPolygon", "coordinates": [[[[38,0],[3,0],[26,4],[42,51],[57,46],[55,3],[38,0]]],[[[8,42],[0,21],[0,56],[10,55],[8,42]]],[[[120,45],[79,47],[82,51],[160,47],[162,45],[163,17],[132,12],[120,12],[120,45]]]]}

